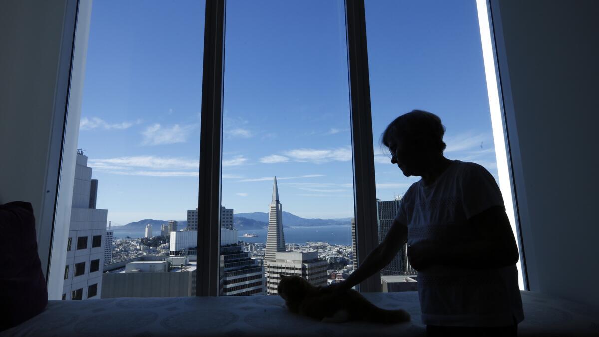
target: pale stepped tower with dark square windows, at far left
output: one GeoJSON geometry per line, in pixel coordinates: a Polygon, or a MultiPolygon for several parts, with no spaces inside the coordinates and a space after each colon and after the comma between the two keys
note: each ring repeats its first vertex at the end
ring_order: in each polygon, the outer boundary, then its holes
{"type": "Polygon", "coordinates": [[[83,151],[77,151],[63,299],[100,297],[108,210],[90,208],[96,204],[97,191],[98,183],[92,183],[87,157],[83,151]]]}

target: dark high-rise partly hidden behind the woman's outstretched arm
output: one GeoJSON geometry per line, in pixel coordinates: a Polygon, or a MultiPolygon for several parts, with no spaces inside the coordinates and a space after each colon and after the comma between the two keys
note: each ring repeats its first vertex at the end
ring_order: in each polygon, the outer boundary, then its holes
{"type": "MultiPolygon", "coordinates": [[[[401,197],[395,200],[377,200],[377,219],[379,225],[379,242],[383,242],[400,207],[401,197]]],[[[416,270],[408,261],[407,243],[387,266],[381,270],[381,275],[416,275],[416,270]]]]}

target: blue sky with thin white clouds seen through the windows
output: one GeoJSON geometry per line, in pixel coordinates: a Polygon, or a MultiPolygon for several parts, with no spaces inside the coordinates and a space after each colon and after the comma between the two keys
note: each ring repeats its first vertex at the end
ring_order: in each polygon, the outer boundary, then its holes
{"type": "MultiPolygon", "coordinates": [[[[377,197],[406,178],[380,133],[413,109],[447,127],[446,155],[497,176],[474,1],[367,1],[377,197]]],[[[197,203],[204,4],[95,1],[79,148],[113,224],[184,219],[197,203]]],[[[343,1],[229,0],[222,204],[353,216],[343,1]]]]}

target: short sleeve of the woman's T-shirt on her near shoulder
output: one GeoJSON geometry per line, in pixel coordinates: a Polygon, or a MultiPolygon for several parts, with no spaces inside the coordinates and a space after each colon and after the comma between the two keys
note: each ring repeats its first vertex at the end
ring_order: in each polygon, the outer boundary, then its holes
{"type": "Polygon", "coordinates": [[[493,207],[504,207],[495,178],[484,167],[473,164],[462,180],[462,204],[467,219],[493,207]]]}

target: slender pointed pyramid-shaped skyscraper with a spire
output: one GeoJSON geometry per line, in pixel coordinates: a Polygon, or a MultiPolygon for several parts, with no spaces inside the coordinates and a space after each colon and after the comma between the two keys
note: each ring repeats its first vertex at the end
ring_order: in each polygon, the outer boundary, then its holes
{"type": "Polygon", "coordinates": [[[273,198],[268,210],[268,231],[266,236],[266,249],[264,263],[274,261],[276,252],[285,251],[285,237],[283,237],[283,208],[279,202],[279,189],[277,177],[274,177],[273,198]]]}

